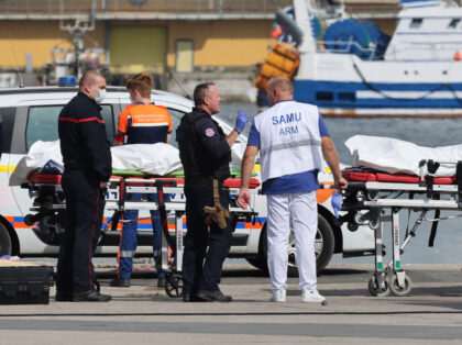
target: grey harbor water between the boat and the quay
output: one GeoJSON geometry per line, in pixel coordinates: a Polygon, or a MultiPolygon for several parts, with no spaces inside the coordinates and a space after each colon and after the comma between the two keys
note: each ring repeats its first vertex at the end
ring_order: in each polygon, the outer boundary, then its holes
{"type": "MultiPolygon", "coordinates": [[[[219,116],[233,122],[235,114],[245,111],[251,118],[255,116],[257,109],[253,104],[230,103],[221,104],[219,116]]],[[[449,146],[462,144],[462,119],[351,119],[327,118],[324,119],[330,135],[339,153],[340,162],[352,165],[353,158],[343,144],[349,137],[358,134],[394,137],[415,143],[420,146],[449,146]]],[[[250,125],[248,125],[249,130],[250,125]]],[[[457,212],[441,212],[443,215],[454,215],[457,212]]],[[[427,218],[433,218],[429,212],[427,218]]],[[[414,225],[417,213],[410,213],[409,227],[414,225]]],[[[408,212],[400,212],[402,237],[405,235],[408,223],[408,212]]],[[[424,222],[405,248],[403,263],[405,264],[460,264],[462,263],[462,219],[440,221],[435,246],[428,247],[431,223],[424,222]]],[[[372,231],[372,230],[371,230],[372,231]]],[[[403,238],[402,238],[403,240],[403,238]]],[[[386,244],[386,257],[389,259],[391,227],[385,226],[384,243],[386,244]]],[[[334,255],[332,264],[373,263],[373,257],[342,258],[334,255]]]]}

